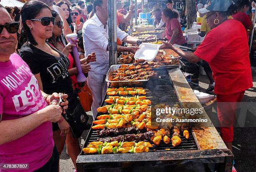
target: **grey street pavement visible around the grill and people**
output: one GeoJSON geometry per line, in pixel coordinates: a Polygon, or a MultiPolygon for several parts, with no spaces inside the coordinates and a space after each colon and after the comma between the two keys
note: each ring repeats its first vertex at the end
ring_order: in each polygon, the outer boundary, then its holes
{"type": "MultiPolygon", "coordinates": [[[[256,67],[251,67],[253,76],[253,87],[245,92],[242,102],[256,103],[256,67]]],[[[236,77],[236,76],[234,76],[236,77]]],[[[199,91],[205,92],[209,85],[209,80],[206,75],[200,75],[199,78],[199,91]]],[[[256,106],[251,109],[251,116],[247,120],[255,122],[256,106]]],[[[91,112],[87,113],[91,115],[91,112]]],[[[92,122],[92,116],[90,121],[92,122]]],[[[256,125],[255,125],[256,126],[256,125]]],[[[255,127],[234,127],[234,141],[233,141],[233,154],[235,157],[235,167],[237,172],[256,172],[256,128],[255,127]]],[[[84,145],[89,130],[85,130],[81,139],[79,140],[80,146],[84,145]]],[[[60,157],[60,172],[74,172],[74,165],[72,160],[66,153],[66,147],[60,157]]]]}

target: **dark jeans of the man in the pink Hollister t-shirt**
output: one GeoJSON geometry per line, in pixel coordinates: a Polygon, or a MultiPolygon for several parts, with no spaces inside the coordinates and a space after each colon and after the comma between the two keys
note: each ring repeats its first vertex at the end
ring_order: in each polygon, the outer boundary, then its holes
{"type": "Polygon", "coordinates": [[[34,172],[59,172],[59,153],[54,145],[51,158],[46,164],[34,172]]]}

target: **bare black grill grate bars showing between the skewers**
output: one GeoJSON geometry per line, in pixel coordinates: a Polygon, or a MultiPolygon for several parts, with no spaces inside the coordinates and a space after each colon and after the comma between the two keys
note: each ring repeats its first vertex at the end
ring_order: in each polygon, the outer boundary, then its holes
{"type": "MultiPolygon", "coordinates": [[[[172,85],[172,82],[169,78],[169,75],[167,73],[167,70],[161,70],[158,71],[159,78],[152,78],[148,82],[145,82],[143,85],[143,88],[146,88],[146,99],[151,100],[151,102],[154,104],[161,104],[164,103],[165,105],[173,106],[174,104],[179,104],[179,99],[177,97],[177,94],[174,90],[174,87],[172,85]]],[[[108,99],[108,95],[105,96],[105,99],[108,99]]],[[[127,97],[132,97],[131,95],[128,95],[127,97]]],[[[104,99],[104,100],[105,100],[104,99]]],[[[102,102],[101,106],[108,105],[105,102],[102,102]]],[[[99,115],[104,115],[106,113],[98,113],[99,115]]],[[[173,134],[172,129],[170,130],[170,134],[173,134]]],[[[191,129],[189,129],[189,139],[187,140],[181,131],[181,140],[182,143],[176,147],[172,146],[172,141],[168,145],[163,143],[161,141],[160,145],[153,146],[150,148],[149,152],[161,152],[161,151],[178,151],[178,150],[197,150],[197,145],[195,143],[195,138],[192,135],[191,129]]],[[[115,135],[117,136],[117,135],[115,135]]],[[[86,147],[90,142],[97,141],[98,138],[104,138],[104,137],[113,137],[113,135],[108,136],[99,136],[96,133],[96,130],[90,130],[87,139],[85,141],[84,147],[86,147]]],[[[153,144],[153,142],[151,142],[153,144]]],[[[85,155],[82,152],[82,155],[85,155]]]]}

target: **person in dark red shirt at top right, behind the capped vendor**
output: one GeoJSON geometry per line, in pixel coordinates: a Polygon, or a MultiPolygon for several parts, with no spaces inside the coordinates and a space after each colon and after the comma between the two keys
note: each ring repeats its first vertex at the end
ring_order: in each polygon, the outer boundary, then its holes
{"type": "MultiPolygon", "coordinates": [[[[236,13],[232,15],[233,19],[238,20],[243,24],[246,31],[253,30],[253,23],[251,19],[246,14],[246,11],[250,7],[251,3],[249,0],[239,0],[235,3],[236,5],[236,13]]],[[[247,41],[249,40],[249,35],[247,32],[247,41]]]]}

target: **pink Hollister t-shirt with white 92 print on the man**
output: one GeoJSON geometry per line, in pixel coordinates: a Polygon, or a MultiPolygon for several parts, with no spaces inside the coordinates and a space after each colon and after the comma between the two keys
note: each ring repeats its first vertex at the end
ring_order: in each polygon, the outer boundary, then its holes
{"type": "MultiPolygon", "coordinates": [[[[0,62],[0,69],[2,121],[26,117],[47,106],[36,77],[18,54],[12,54],[8,62],[0,62]]],[[[23,137],[0,145],[0,163],[28,163],[29,170],[15,171],[32,172],[48,162],[53,147],[51,122],[45,122],[23,137]]]]}

